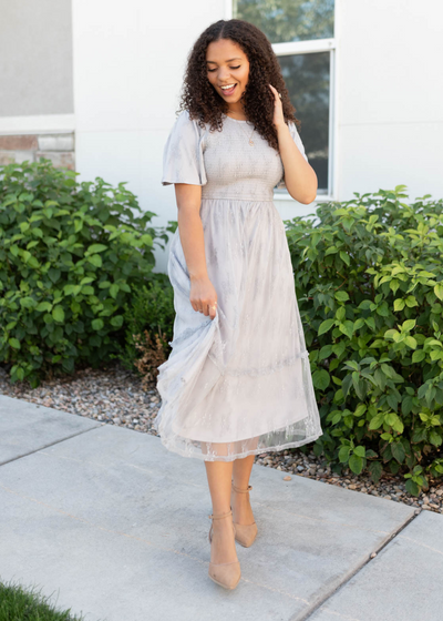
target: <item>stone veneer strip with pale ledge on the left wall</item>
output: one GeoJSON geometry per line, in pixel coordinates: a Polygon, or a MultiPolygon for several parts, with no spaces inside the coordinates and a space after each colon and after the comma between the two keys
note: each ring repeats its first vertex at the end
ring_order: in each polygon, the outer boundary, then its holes
{"type": "Polygon", "coordinates": [[[56,169],[75,170],[74,132],[52,134],[0,135],[0,165],[39,157],[51,160],[56,169]]]}

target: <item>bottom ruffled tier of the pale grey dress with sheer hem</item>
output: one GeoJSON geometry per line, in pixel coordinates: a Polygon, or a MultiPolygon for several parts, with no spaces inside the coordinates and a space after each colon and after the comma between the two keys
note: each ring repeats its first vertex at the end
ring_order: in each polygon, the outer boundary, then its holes
{"type": "MultiPolygon", "coordinates": [[[[176,400],[173,405],[162,401],[154,421],[162,444],[186,457],[231,461],[315,441],[323,431],[306,354],[262,374],[260,385],[257,376],[229,375],[212,367],[215,381],[199,381],[200,387],[208,387],[203,399],[196,398],[203,395],[200,388],[187,393],[190,376],[182,378],[176,400]],[[181,398],[192,404],[188,409],[182,410],[181,398]]],[[[190,386],[202,377],[207,374],[190,379],[190,386]]],[[[171,394],[164,377],[158,384],[161,396],[171,394]]]]}

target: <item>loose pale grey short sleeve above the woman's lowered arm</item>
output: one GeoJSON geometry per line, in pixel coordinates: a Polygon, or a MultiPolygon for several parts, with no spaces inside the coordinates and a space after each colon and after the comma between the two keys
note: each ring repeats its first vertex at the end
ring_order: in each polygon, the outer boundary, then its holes
{"type": "Polygon", "coordinates": [[[163,151],[162,185],[188,183],[206,185],[203,160],[203,132],[184,110],[175,120],[163,151]]]}

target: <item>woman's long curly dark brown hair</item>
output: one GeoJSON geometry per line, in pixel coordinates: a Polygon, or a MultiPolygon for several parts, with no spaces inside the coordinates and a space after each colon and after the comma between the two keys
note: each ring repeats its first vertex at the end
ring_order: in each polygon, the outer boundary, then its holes
{"type": "Polygon", "coordinates": [[[266,34],[245,20],[218,20],[198,37],[187,57],[179,109],[189,112],[200,128],[210,124],[210,131],[222,131],[222,114],[228,111],[227,102],[217,93],[207,78],[206,50],[213,41],[229,39],[237,43],[249,61],[249,78],[243,95],[243,105],[248,121],[256,131],[278,151],[277,129],[272,124],[274,94],[268,84],[281,93],[285,122],[300,122],[281,75],[280,64],[266,34]]]}

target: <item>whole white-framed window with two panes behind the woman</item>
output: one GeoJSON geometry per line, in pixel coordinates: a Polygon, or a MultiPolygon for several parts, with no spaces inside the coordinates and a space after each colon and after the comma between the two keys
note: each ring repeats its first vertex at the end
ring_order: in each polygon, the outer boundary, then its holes
{"type": "Polygon", "coordinates": [[[254,23],[271,42],[318,176],[318,195],[332,196],[334,0],[234,0],[233,18],[254,23]]]}

